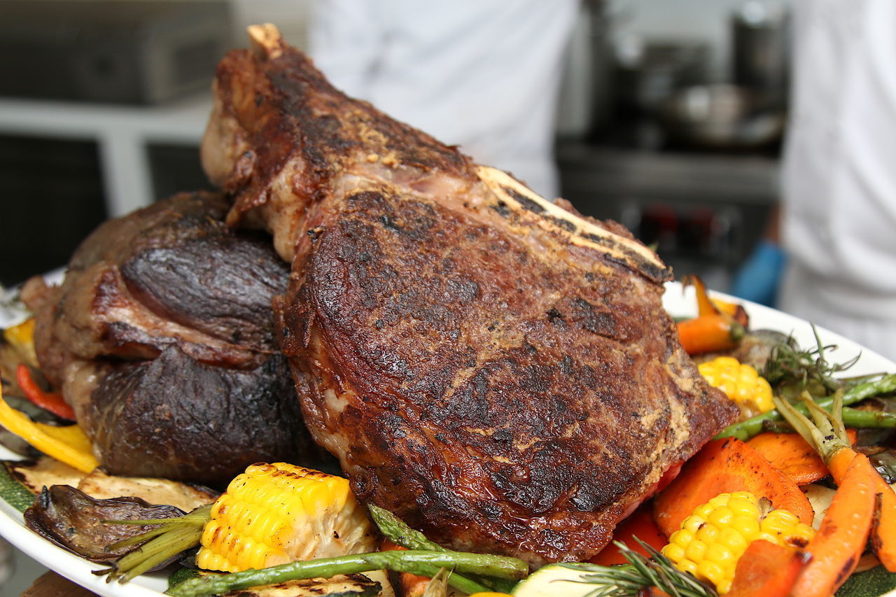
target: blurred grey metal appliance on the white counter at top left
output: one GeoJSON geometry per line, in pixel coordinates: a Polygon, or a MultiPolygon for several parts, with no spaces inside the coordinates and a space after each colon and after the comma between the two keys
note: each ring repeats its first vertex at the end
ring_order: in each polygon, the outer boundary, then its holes
{"type": "Polygon", "coordinates": [[[4,0],[0,95],[163,102],[208,88],[230,31],[222,0],[4,0]]]}

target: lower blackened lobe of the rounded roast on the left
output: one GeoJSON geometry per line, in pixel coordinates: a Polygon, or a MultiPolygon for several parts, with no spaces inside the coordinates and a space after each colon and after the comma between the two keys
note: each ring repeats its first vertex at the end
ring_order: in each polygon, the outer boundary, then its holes
{"type": "Polygon", "coordinates": [[[256,462],[316,454],[289,366],[211,367],[177,347],[158,359],[100,369],[85,420],[108,472],[222,487],[256,462]]]}

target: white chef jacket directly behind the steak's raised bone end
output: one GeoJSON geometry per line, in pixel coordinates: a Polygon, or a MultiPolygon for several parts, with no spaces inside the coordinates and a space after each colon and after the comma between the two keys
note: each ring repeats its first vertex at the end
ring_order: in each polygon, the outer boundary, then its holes
{"type": "Polygon", "coordinates": [[[576,0],[320,0],[330,80],[480,163],[556,196],[556,93],[576,0]]]}

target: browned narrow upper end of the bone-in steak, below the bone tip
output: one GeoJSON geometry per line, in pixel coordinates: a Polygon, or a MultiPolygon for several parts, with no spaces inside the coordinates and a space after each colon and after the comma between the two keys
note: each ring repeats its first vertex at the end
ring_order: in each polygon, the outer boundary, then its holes
{"type": "Polygon", "coordinates": [[[232,145],[219,143],[203,148],[203,161],[208,163],[212,152],[228,152],[221,157],[220,173],[211,169],[210,174],[237,196],[236,213],[266,201],[269,182],[291,160],[303,170],[289,182],[297,196],[308,200],[319,198],[359,151],[420,173],[473,177],[467,156],[365,101],[346,101],[300,52],[265,57],[233,50],[220,62],[215,88],[219,113],[210,127],[231,122],[228,134],[239,134],[237,144],[245,149],[234,154],[232,145]]]}

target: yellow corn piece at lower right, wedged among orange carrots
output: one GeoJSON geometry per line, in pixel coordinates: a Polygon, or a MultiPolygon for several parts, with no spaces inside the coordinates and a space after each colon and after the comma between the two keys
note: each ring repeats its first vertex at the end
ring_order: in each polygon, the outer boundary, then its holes
{"type": "Polygon", "coordinates": [[[757,539],[778,545],[805,547],[811,526],[800,523],[787,510],[762,515],[759,500],[746,491],[721,493],[694,508],[661,549],[676,568],[709,581],[719,593],[728,593],[737,560],[757,539]]]}

